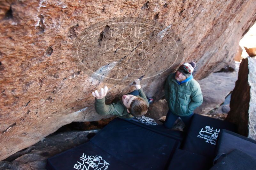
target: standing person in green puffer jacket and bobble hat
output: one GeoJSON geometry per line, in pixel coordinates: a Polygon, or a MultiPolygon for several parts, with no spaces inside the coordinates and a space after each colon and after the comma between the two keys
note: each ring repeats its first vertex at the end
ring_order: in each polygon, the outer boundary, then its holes
{"type": "Polygon", "coordinates": [[[167,128],[171,128],[178,117],[188,128],[193,111],[203,103],[200,85],[192,76],[195,67],[195,62],[184,63],[167,77],[165,99],[169,110],[164,123],[167,128]]]}

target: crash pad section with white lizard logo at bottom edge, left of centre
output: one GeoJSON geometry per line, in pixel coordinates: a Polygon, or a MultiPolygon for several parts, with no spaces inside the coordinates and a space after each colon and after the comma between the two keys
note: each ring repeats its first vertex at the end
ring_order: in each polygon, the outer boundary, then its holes
{"type": "Polygon", "coordinates": [[[125,163],[115,159],[95,144],[86,142],[69,149],[47,160],[47,170],[135,170],[125,163]]]}

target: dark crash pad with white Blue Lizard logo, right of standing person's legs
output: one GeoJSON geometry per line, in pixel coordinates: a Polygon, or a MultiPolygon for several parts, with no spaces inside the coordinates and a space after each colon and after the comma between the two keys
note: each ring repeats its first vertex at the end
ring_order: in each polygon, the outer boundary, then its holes
{"type": "Polygon", "coordinates": [[[236,131],[234,124],[194,114],[182,149],[213,159],[216,141],[221,129],[236,131]]]}

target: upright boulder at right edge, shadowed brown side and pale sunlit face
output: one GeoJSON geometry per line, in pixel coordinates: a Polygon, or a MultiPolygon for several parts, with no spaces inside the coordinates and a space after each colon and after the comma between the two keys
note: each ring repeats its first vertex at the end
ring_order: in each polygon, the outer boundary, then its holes
{"type": "Polygon", "coordinates": [[[256,60],[247,57],[240,64],[238,79],[226,120],[237,124],[238,133],[256,139],[256,60]]]}

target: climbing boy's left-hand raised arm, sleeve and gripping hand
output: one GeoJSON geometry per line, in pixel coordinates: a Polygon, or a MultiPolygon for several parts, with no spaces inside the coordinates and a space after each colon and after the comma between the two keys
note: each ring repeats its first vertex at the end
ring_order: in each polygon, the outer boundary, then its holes
{"type": "Polygon", "coordinates": [[[107,94],[108,88],[107,86],[100,89],[100,92],[95,90],[92,92],[92,96],[96,97],[95,100],[95,110],[99,115],[112,115],[115,113],[115,109],[112,104],[106,104],[105,103],[105,96],[107,94]]]}

